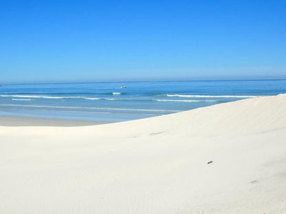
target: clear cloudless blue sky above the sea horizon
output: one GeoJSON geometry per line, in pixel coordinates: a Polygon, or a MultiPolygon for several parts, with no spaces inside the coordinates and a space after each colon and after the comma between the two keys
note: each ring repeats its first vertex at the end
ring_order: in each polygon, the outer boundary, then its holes
{"type": "Polygon", "coordinates": [[[0,82],[286,78],[286,1],[0,1],[0,82]]]}

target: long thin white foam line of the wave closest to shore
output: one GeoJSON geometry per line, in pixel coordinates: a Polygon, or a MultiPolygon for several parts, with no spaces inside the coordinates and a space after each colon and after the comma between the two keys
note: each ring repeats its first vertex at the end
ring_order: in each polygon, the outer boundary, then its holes
{"type": "Polygon", "coordinates": [[[17,104],[0,104],[0,106],[22,106],[33,108],[72,108],[72,109],[98,109],[98,110],[132,110],[132,111],[148,111],[148,112],[179,112],[179,110],[164,109],[142,109],[142,108],[101,108],[101,107],[76,107],[76,106],[37,106],[37,105],[17,105],[17,104]]]}

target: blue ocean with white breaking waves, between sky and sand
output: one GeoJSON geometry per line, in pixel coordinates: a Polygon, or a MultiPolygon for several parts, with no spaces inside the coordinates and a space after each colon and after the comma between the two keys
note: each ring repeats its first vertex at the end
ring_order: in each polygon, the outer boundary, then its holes
{"type": "Polygon", "coordinates": [[[127,121],[279,93],[286,80],[5,84],[0,115],[127,121]]]}

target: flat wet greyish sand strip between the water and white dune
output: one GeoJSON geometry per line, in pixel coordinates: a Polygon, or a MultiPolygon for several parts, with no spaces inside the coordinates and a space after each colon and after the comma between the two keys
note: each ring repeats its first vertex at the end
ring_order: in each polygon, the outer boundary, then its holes
{"type": "Polygon", "coordinates": [[[0,116],[0,126],[56,126],[56,127],[75,127],[75,126],[95,126],[113,122],[101,121],[82,121],[68,119],[45,119],[36,117],[0,116]]]}

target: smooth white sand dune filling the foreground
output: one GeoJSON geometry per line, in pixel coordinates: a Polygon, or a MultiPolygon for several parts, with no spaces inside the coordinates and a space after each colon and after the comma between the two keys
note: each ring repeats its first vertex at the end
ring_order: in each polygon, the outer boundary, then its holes
{"type": "Polygon", "coordinates": [[[0,170],[5,214],[286,213],[286,95],[99,126],[1,126],[0,170]]]}

